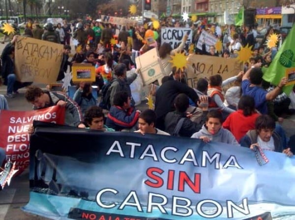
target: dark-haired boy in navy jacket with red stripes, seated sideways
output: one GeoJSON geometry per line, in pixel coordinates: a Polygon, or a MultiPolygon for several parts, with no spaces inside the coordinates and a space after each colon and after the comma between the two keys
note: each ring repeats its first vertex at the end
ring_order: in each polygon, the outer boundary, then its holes
{"type": "Polygon", "coordinates": [[[114,105],[111,107],[106,125],[115,129],[120,130],[132,130],[136,125],[139,117],[139,111],[131,107],[130,96],[127,92],[120,91],[114,95],[114,105]]]}

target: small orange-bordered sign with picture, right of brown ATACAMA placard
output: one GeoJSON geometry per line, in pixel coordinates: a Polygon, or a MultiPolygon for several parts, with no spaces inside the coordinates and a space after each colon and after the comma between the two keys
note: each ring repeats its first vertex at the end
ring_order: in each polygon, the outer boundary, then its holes
{"type": "Polygon", "coordinates": [[[73,82],[94,82],[95,66],[89,63],[73,63],[73,82]]]}

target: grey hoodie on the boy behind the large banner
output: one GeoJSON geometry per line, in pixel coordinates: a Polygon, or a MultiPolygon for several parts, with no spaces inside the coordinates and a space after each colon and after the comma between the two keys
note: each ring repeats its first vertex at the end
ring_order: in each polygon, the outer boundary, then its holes
{"type": "Polygon", "coordinates": [[[200,138],[201,136],[206,136],[206,137],[210,138],[211,141],[239,145],[236,141],[236,138],[231,133],[231,131],[229,131],[228,129],[225,129],[223,127],[221,127],[220,130],[216,134],[212,135],[208,132],[207,127],[205,125],[203,125],[202,129],[199,130],[198,132],[194,133],[191,137],[192,138],[200,138]]]}

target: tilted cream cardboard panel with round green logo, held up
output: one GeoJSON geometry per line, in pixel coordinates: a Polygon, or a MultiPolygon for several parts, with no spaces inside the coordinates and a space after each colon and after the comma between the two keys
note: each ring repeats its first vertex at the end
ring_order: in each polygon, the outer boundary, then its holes
{"type": "Polygon", "coordinates": [[[156,48],[149,50],[135,59],[136,66],[139,68],[144,86],[158,80],[161,85],[161,79],[165,76],[163,65],[158,56],[156,48]]]}

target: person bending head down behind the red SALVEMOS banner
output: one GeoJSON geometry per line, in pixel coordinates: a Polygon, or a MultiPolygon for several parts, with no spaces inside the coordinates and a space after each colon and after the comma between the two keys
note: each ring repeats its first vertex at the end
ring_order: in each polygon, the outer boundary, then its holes
{"type": "Polygon", "coordinates": [[[29,86],[25,97],[33,104],[33,109],[42,109],[55,105],[65,107],[64,124],[85,127],[79,105],[63,93],[43,91],[37,86],[29,86]]]}

